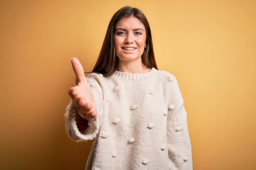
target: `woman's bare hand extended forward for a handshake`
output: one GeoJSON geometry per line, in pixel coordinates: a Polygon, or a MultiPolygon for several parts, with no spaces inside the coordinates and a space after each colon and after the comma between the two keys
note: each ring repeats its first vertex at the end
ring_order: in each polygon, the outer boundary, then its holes
{"type": "MultiPolygon", "coordinates": [[[[71,87],[68,94],[72,98],[73,108],[77,111],[76,120],[78,124],[84,124],[83,122],[93,120],[97,116],[93,92],[84,76],[84,68],[79,60],[73,57],[71,63],[76,74],[77,85],[71,87]]],[[[87,123],[86,126],[88,126],[87,123]]]]}

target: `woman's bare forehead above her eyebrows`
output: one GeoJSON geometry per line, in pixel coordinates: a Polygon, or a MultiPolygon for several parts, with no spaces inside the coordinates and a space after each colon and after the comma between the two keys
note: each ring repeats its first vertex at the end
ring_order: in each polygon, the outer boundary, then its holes
{"type": "Polygon", "coordinates": [[[116,28],[131,28],[131,29],[137,29],[137,28],[143,28],[145,30],[144,24],[136,17],[126,17],[122,18],[116,23],[116,28]]]}

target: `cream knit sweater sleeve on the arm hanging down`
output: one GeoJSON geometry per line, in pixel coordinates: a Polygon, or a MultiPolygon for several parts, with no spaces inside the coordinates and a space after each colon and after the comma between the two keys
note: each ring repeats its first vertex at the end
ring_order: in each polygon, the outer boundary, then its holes
{"type": "Polygon", "coordinates": [[[192,148],[187,125],[187,113],[177,79],[167,78],[168,116],[167,141],[170,170],[192,170],[192,148]]]}

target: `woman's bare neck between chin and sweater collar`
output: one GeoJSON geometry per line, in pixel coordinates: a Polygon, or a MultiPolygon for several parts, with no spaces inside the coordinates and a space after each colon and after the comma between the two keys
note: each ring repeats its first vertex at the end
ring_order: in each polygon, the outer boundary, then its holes
{"type": "Polygon", "coordinates": [[[132,61],[122,61],[119,59],[119,69],[118,71],[124,73],[133,73],[133,74],[142,74],[150,71],[151,68],[146,68],[146,66],[142,63],[141,57],[137,60],[132,61]]]}

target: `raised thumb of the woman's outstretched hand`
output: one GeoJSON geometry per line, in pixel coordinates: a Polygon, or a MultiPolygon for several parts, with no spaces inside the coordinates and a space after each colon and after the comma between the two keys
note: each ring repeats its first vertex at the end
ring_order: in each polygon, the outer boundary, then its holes
{"type": "Polygon", "coordinates": [[[76,74],[76,82],[84,82],[86,81],[86,77],[84,76],[84,68],[81,65],[81,62],[76,57],[71,58],[71,63],[73,70],[76,74]]]}

